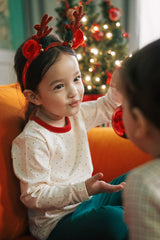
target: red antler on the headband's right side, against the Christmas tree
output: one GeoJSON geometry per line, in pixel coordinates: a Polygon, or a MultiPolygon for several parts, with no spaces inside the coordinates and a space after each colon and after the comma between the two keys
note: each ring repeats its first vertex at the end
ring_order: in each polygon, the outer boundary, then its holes
{"type": "Polygon", "coordinates": [[[86,13],[82,13],[83,7],[80,6],[75,12],[73,13],[75,17],[75,22],[72,20],[70,25],[66,24],[65,29],[71,30],[73,33],[76,32],[79,28],[82,27],[82,24],[80,24],[80,20],[84,17],[86,13]]]}

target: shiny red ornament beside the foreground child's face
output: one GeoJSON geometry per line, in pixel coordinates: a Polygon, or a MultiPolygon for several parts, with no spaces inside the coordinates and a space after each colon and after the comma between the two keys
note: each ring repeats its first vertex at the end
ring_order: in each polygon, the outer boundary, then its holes
{"type": "Polygon", "coordinates": [[[126,130],[122,120],[122,106],[119,106],[112,116],[112,127],[117,135],[126,138],[126,130]]]}

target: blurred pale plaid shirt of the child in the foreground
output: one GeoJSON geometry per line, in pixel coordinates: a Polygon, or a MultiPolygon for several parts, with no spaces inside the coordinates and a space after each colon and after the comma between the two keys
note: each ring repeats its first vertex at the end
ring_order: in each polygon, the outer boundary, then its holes
{"type": "Polygon", "coordinates": [[[160,239],[159,171],[158,160],[133,170],[127,177],[123,199],[130,240],[160,239]]]}

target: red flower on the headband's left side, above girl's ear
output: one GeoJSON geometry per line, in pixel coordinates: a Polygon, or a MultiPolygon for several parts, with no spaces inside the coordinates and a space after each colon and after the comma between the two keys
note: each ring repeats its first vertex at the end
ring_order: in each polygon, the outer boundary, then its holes
{"type": "Polygon", "coordinates": [[[29,60],[36,58],[40,54],[40,50],[41,45],[33,39],[28,40],[22,48],[24,57],[29,60]]]}

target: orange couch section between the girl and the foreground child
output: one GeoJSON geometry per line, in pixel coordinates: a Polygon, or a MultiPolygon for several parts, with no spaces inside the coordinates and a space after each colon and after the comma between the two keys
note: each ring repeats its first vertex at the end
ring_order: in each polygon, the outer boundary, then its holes
{"type": "Polygon", "coordinates": [[[93,128],[88,138],[94,173],[103,172],[107,182],[151,160],[150,155],[119,137],[112,128],[93,128]]]}

